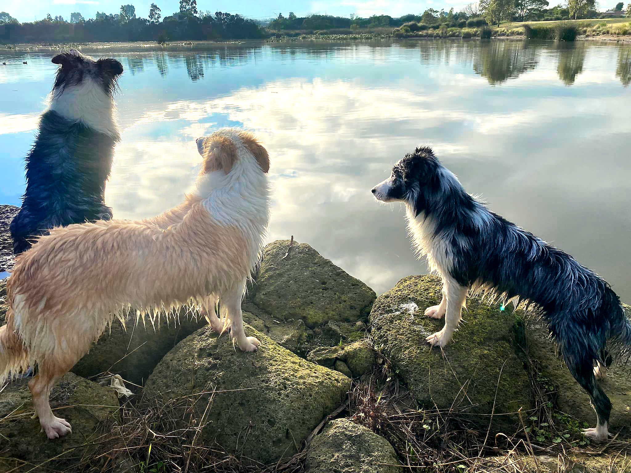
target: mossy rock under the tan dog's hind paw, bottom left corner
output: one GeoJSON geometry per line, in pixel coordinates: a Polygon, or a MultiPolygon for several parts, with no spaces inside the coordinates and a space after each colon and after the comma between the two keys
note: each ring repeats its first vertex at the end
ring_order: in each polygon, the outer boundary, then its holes
{"type": "Polygon", "coordinates": [[[82,457],[90,458],[97,448],[103,448],[95,444],[105,441],[103,434],[119,419],[119,401],[114,389],[66,373],[52,389],[50,406],[57,416],[71,424],[73,431],[48,440],[38,419],[31,418],[34,411],[28,379],[9,384],[0,394],[0,471],[23,473],[53,457],[56,460],[33,471],[66,470],[80,463],[82,457]],[[12,470],[15,467],[18,469],[12,470]]]}

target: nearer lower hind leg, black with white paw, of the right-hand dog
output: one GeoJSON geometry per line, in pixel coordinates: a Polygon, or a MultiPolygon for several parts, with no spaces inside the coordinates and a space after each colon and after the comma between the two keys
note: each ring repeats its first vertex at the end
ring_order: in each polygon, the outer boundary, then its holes
{"type": "Polygon", "coordinates": [[[574,379],[589,394],[591,405],[596,411],[596,427],[583,429],[583,433],[594,441],[606,440],[609,435],[611,401],[594,377],[593,360],[589,358],[589,350],[575,343],[571,348],[562,347],[561,353],[574,379]]]}

